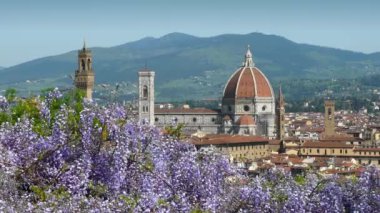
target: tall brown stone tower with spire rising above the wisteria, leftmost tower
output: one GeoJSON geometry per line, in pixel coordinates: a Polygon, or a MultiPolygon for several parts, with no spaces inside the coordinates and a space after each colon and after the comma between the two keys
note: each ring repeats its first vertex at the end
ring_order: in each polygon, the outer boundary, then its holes
{"type": "Polygon", "coordinates": [[[78,51],[78,69],[75,71],[75,87],[85,92],[85,98],[92,99],[94,80],[91,50],[87,49],[86,43],[84,43],[83,48],[78,51]]]}

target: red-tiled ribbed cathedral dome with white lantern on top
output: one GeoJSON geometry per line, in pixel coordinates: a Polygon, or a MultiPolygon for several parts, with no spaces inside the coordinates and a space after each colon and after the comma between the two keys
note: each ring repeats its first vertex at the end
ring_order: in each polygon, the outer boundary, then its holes
{"type": "Polygon", "coordinates": [[[247,50],[243,66],[235,71],[224,88],[223,98],[273,97],[273,90],[265,75],[255,67],[252,53],[247,50]]]}

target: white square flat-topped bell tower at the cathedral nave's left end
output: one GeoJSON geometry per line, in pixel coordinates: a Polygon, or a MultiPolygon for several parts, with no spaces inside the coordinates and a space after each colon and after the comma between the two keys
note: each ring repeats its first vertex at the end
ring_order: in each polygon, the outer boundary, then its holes
{"type": "Polygon", "coordinates": [[[154,125],[154,71],[139,71],[139,120],[154,125]]]}

